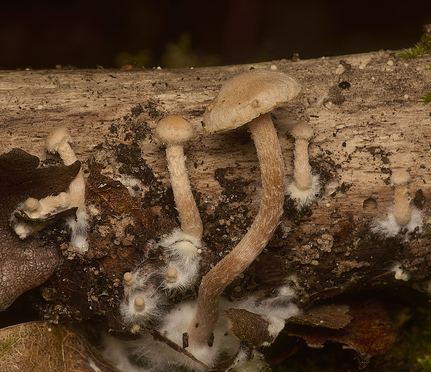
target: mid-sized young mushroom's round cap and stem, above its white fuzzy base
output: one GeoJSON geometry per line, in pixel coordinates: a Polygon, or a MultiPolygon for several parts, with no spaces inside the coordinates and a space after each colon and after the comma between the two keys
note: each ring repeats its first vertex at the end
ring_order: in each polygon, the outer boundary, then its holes
{"type": "Polygon", "coordinates": [[[184,156],[184,145],[193,138],[194,133],[191,123],[177,115],[160,120],[155,130],[156,136],[166,145],[166,158],[181,230],[200,241],[202,220],[191,193],[184,156]]]}

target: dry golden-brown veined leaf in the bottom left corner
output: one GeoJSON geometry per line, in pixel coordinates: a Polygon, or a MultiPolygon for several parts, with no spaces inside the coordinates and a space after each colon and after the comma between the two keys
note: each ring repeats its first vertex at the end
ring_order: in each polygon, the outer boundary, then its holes
{"type": "Polygon", "coordinates": [[[2,372],[117,372],[64,325],[28,322],[0,329],[2,372]]]}

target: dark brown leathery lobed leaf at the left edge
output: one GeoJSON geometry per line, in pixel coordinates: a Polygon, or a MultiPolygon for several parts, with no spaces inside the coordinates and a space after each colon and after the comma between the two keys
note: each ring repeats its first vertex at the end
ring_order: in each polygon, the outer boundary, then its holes
{"type": "Polygon", "coordinates": [[[59,263],[55,247],[31,238],[20,240],[9,225],[17,204],[65,191],[81,169],[70,166],[37,168],[39,158],[15,148],[0,155],[0,311],[23,292],[46,281],[59,263]]]}

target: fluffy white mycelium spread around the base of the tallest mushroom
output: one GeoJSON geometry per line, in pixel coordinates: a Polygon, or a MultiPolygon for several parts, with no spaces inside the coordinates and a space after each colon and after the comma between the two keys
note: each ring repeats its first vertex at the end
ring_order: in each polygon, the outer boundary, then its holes
{"type": "MultiPolygon", "coordinates": [[[[228,319],[220,317],[220,313],[228,308],[246,309],[264,316],[270,322],[270,334],[277,336],[284,328],[284,320],[300,313],[297,306],[290,303],[293,296],[293,290],[285,286],[279,288],[274,297],[260,301],[256,297],[250,297],[246,300],[231,303],[221,298],[219,322],[213,331],[214,341],[212,346],[209,347],[206,344],[194,345],[189,338],[189,346],[186,350],[208,366],[214,366],[222,354],[234,355],[239,347],[239,341],[231,333],[228,319]]],[[[183,333],[187,332],[189,322],[194,318],[196,307],[196,300],[176,305],[169,313],[162,316],[162,325],[156,327],[156,330],[182,346],[183,333]]],[[[109,340],[110,336],[106,337],[109,340]]],[[[143,334],[142,338],[135,341],[107,341],[106,347],[107,350],[105,350],[104,355],[122,372],[136,371],[135,368],[137,367],[127,363],[131,359],[137,360],[137,365],[143,366],[143,369],[138,369],[138,371],[177,371],[178,366],[191,371],[205,371],[203,367],[183,353],[176,352],[165,343],[155,341],[153,336],[149,334],[143,334]],[[115,345],[115,347],[112,345],[115,345]],[[131,356],[131,359],[128,359],[127,356],[131,356]]],[[[239,358],[237,363],[243,361],[244,358],[239,358]]]]}

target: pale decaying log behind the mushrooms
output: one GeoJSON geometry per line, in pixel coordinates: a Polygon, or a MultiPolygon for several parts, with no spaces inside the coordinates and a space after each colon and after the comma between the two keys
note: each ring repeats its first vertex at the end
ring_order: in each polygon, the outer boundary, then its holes
{"type": "MultiPolygon", "coordinates": [[[[212,253],[204,273],[237,244],[256,216],[260,176],[247,128],[205,134],[203,112],[226,79],[250,66],[293,75],[305,95],[272,112],[286,174],[293,173],[289,131],[305,119],[315,129],[312,166],[332,186],[303,214],[285,203],[282,223],[260,260],[227,293],[241,297],[256,288],[256,281],[267,290],[288,281],[305,306],[316,298],[394,283],[389,268],[396,262],[412,282],[430,274],[431,108],[416,102],[431,89],[431,72],[425,69],[430,62],[431,56],[404,60],[379,51],[196,69],[2,71],[0,151],[19,147],[44,163],[53,158],[43,147],[47,133],[66,127],[84,170],[92,156],[105,162],[108,176],[118,169],[142,176],[146,167],[150,177],[139,183],[144,197],[159,181],[159,190],[169,186],[165,151],[151,131],[163,116],[184,116],[199,134],[186,154],[203,241],[212,253]],[[115,158],[117,150],[133,144],[141,146],[141,163],[115,158]],[[407,242],[384,241],[369,232],[369,223],[384,216],[393,200],[388,180],[397,168],[411,175],[410,195],[418,195],[415,203],[425,216],[422,233],[407,242]],[[369,198],[377,205],[365,202],[369,198]]],[[[167,205],[144,202],[142,207],[175,224],[172,198],[167,205]]],[[[119,288],[113,290],[121,296],[119,288]]]]}

